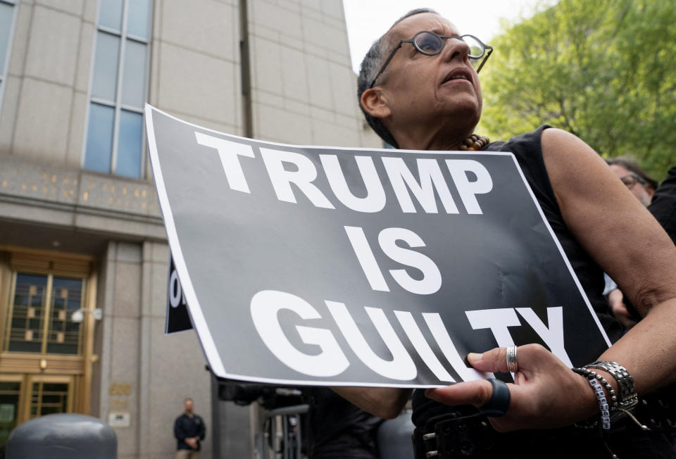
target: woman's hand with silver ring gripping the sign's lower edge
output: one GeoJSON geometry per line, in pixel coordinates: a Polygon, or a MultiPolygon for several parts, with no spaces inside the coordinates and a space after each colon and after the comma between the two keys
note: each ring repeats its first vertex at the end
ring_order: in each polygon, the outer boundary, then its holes
{"type": "MultiPolygon", "coordinates": [[[[518,372],[514,384],[507,384],[511,401],[506,415],[489,417],[498,432],[517,429],[549,429],[571,425],[599,413],[599,404],[587,378],[577,375],[553,353],[539,344],[518,347],[518,372]]],[[[507,372],[506,348],[482,354],[470,353],[468,361],[482,372],[507,372]]],[[[484,379],[459,382],[425,395],[448,405],[480,407],[493,394],[484,379]]]]}

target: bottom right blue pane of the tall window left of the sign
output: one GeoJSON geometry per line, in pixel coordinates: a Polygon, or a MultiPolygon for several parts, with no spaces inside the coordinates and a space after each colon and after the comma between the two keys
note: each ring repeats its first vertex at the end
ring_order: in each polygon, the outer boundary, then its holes
{"type": "Polygon", "coordinates": [[[141,151],[143,146],[143,116],[141,113],[120,111],[120,137],[115,174],[141,177],[141,151]]]}

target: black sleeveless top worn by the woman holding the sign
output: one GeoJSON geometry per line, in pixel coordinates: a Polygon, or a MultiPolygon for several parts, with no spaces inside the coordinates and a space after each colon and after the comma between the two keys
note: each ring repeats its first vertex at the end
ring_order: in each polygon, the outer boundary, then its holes
{"type": "MultiPolygon", "coordinates": [[[[622,336],[622,326],[610,314],[608,302],[603,297],[603,270],[582,249],[582,246],[578,244],[565,226],[561,210],[558,208],[556,197],[549,182],[549,175],[547,175],[544,167],[540,138],[542,132],[548,127],[551,126],[543,125],[537,130],[513,137],[509,142],[493,142],[484,147],[484,151],[510,151],[514,154],[551,229],[556,234],[566,256],[568,256],[570,265],[575,270],[577,278],[580,279],[580,284],[587,293],[589,303],[592,304],[601,325],[606,329],[608,339],[614,343],[622,336]]],[[[424,427],[430,417],[449,413],[453,410],[460,411],[458,414],[462,415],[476,411],[476,408],[469,406],[451,407],[442,405],[425,397],[424,392],[418,389],[413,393],[412,420],[416,427],[424,427]]]]}

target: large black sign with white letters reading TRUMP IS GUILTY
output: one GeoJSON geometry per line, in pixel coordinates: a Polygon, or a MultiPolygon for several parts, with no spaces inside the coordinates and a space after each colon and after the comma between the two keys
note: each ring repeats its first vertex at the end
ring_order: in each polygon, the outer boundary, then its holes
{"type": "Polygon", "coordinates": [[[439,386],[491,376],[470,351],[535,342],[582,365],[609,345],[511,153],[272,144],[151,106],[146,126],[219,377],[439,386]]]}

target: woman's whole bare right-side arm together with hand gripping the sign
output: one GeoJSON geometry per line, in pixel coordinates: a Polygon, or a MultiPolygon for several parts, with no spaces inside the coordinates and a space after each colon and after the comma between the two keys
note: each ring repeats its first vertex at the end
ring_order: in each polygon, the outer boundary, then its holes
{"type": "MultiPolygon", "coordinates": [[[[650,213],[580,139],[545,130],[542,153],[568,229],[606,270],[644,316],[600,360],[629,370],[636,389],[647,394],[676,380],[676,247],[650,213]]],[[[521,346],[520,371],[508,384],[507,415],[491,420],[508,431],[569,425],[599,412],[586,379],[568,370],[542,346],[521,346]]],[[[505,350],[493,349],[468,360],[480,371],[505,371],[505,350]]],[[[617,389],[615,380],[606,375],[617,389]]],[[[486,403],[485,381],[454,384],[428,394],[443,403],[486,403]]]]}

